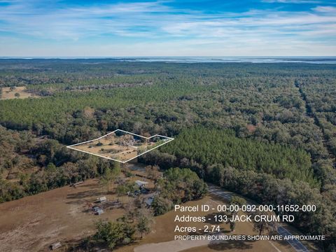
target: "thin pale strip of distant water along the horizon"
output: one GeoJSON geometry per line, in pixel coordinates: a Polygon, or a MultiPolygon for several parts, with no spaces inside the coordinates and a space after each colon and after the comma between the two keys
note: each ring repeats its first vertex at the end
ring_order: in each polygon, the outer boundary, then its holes
{"type": "Polygon", "coordinates": [[[336,64],[336,56],[301,57],[0,57],[0,59],[109,59],[127,62],[167,62],[167,63],[310,63],[336,64]]]}

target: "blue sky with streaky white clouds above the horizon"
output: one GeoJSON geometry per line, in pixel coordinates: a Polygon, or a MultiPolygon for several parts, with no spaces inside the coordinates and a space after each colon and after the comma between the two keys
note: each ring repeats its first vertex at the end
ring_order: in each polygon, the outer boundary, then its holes
{"type": "Polygon", "coordinates": [[[0,0],[0,57],[335,55],[336,0],[0,0]]]}

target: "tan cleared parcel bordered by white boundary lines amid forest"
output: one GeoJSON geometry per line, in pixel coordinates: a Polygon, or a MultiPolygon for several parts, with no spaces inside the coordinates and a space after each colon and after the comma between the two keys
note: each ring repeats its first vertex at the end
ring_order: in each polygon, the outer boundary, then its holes
{"type": "Polygon", "coordinates": [[[115,130],[103,137],[73,144],[67,148],[125,163],[172,140],[174,139],[171,137],[158,134],[143,137],[124,130],[115,130]]]}

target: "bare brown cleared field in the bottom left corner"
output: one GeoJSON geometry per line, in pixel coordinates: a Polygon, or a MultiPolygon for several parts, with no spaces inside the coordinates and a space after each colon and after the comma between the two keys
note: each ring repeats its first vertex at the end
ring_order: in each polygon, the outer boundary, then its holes
{"type": "MultiPolygon", "coordinates": [[[[102,216],[87,212],[87,202],[100,196],[98,181],[89,180],[77,188],[64,186],[0,204],[0,251],[48,251],[55,241],[92,235],[95,221],[123,215],[123,209],[102,216]]],[[[106,197],[114,200],[114,195],[106,197]]]]}

